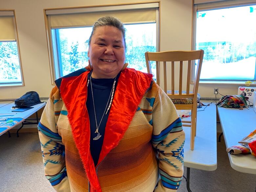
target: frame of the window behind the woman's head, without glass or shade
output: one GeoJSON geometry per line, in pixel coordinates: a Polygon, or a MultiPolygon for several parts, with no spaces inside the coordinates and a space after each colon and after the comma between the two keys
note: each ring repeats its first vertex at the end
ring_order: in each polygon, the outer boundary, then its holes
{"type": "MultiPolygon", "coordinates": [[[[160,9],[160,2],[159,1],[154,1],[154,2],[146,2],[146,3],[132,3],[132,4],[114,4],[114,5],[102,5],[102,6],[89,6],[89,7],[71,7],[71,8],[60,8],[60,9],[44,9],[44,16],[45,16],[45,24],[46,24],[46,33],[47,33],[47,40],[48,40],[48,52],[49,52],[49,61],[50,61],[50,68],[51,68],[51,78],[52,78],[52,85],[55,85],[54,80],[57,79],[58,77],[62,76],[62,70],[61,65],[59,65],[59,61],[60,61],[60,54],[57,53],[57,42],[56,42],[56,31],[55,34],[52,34],[52,29],[64,29],[64,28],[71,28],[71,27],[51,27],[51,18],[50,15],[53,13],[62,13],[63,12],[68,14],[68,13],[75,13],[75,11],[83,11],[83,10],[97,10],[98,12],[100,11],[108,11],[108,10],[112,10],[112,11],[118,11],[118,8],[120,8],[119,11],[121,11],[122,9],[131,9],[131,7],[133,9],[149,9],[152,7],[154,7],[154,4],[157,3],[158,7],[154,8],[156,9],[156,50],[159,51],[160,49],[160,13],[159,13],[159,9],[160,9]],[[127,8],[125,8],[127,6],[127,8]],[[117,8],[117,10],[114,10],[114,8],[117,8]],[[137,7],[137,8],[136,8],[137,7]],[[54,55],[57,55],[57,58],[54,58],[54,55]]],[[[79,12],[79,13],[82,13],[79,12]]],[[[124,22],[124,24],[140,24],[140,23],[152,23],[152,21],[146,21],[146,22],[124,22]]],[[[91,27],[91,25],[83,25],[83,26],[74,26],[74,27],[91,27]]],[[[72,28],[74,28],[72,27],[72,28]]]]}

